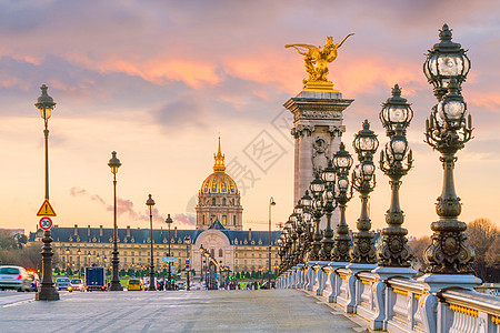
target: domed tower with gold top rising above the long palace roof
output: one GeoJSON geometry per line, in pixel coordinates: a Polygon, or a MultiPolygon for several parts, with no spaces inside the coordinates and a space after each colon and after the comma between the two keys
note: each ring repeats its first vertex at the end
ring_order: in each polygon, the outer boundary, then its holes
{"type": "Polygon", "coordinates": [[[209,229],[213,222],[219,221],[228,230],[242,230],[240,192],[232,178],[226,173],[220,137],[219,151],[213,158],[213,173],[203,181],[198,194],[197,229],[209,229]]]}

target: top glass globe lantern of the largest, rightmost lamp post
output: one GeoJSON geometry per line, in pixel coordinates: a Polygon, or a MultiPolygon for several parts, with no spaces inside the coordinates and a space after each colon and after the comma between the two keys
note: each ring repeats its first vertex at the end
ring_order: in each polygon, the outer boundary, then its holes
{"type": "Polygon", "coordinates": [[[438,100],[448,92],[451,79],[457,80],[459,89],[470,70],[470,60],[459,43],[451,41],[451,30],[448,24],[439,31],[439,43],[436,43],[423,63],[423,73],[429,83],[434,87],[438,100]]]}

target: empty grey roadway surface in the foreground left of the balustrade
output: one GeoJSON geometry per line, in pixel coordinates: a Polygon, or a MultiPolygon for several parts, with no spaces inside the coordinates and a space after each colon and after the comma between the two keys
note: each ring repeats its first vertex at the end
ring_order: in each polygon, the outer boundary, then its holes
{"type": "Polygon", "coordinates": [[[298,290],[64,292],[58,302],[14,301],[0,305],[0,332],[363,330],[343,313],[298,290]]]}

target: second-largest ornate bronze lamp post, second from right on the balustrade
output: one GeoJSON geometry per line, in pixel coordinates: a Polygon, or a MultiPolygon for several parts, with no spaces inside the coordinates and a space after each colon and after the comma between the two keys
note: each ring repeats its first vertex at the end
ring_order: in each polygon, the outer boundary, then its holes
{"type": "Polygon", "coordinates": [[[398,84],[392,89],[392,97],[382,107],[380,120],[387,129],[390,141],[380,152],[380,170],[391,179],[389,183],[392,194],[391,206],[386,213],[386,223],[389,226],[382,229],[382,244],[377,254],[380,266],[408,268],[412,254],[407,244],[408,230],[401,228],[404,215],[399,205],[399,189],[401,178],[410,171],[413,163],[411,149],[408,148],[406,138],[413,111],[407,100],[401,98],[401,89],[398,84]]]}

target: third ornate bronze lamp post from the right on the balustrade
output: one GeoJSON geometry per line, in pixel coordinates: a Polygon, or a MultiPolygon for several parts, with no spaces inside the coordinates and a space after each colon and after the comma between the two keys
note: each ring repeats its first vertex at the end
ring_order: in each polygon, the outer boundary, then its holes
{"type": "Polygon", "coordinates": [[[356,134],[353,145],[360,163],[356,165],[352,174],[352,188],[361,194],[361,215],[357,222],[358,232],[354,234],[354,245],[350,250],[351,262],[372,264],[377,260],[377,253],[373,245],[373,233],[370,232],[368,195],[376,185],[373,153],[379,147],[379,141],[373,131],[370,130],[368,120],[364,120],[363,129],[356,134]]]}

